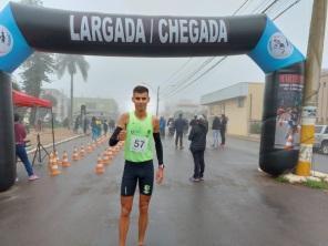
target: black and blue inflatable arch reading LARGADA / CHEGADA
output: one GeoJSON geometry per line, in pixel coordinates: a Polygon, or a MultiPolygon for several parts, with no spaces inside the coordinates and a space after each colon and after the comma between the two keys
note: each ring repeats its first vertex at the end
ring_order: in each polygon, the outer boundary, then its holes
{"type": "Polygon", "coordinates": [[[161,58],[246,53],[266,74],[259,167],[278,175],[297,163],[305,58],[266,16],[117,16],[9,3],[0,13],[0,191],[16,177],[10,73],[33,51],[161,58]]]}

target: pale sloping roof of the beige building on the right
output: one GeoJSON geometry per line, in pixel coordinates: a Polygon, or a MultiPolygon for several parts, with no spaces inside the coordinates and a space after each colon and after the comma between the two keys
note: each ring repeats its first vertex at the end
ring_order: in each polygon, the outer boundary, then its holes
{"type": "MultiPolygon", "coordinates": [[[[201,96],[201,104],[206,105],[214,102],[219,102],[228,99],[235,99],[239,96],[246,96],[248,94],[249,84],[255,82],[239,82],[228,88],[221,89],[218,91],[205,94],[201,96]]],[[[259,84],[259,83],[256,83],[259,84]]]]}

